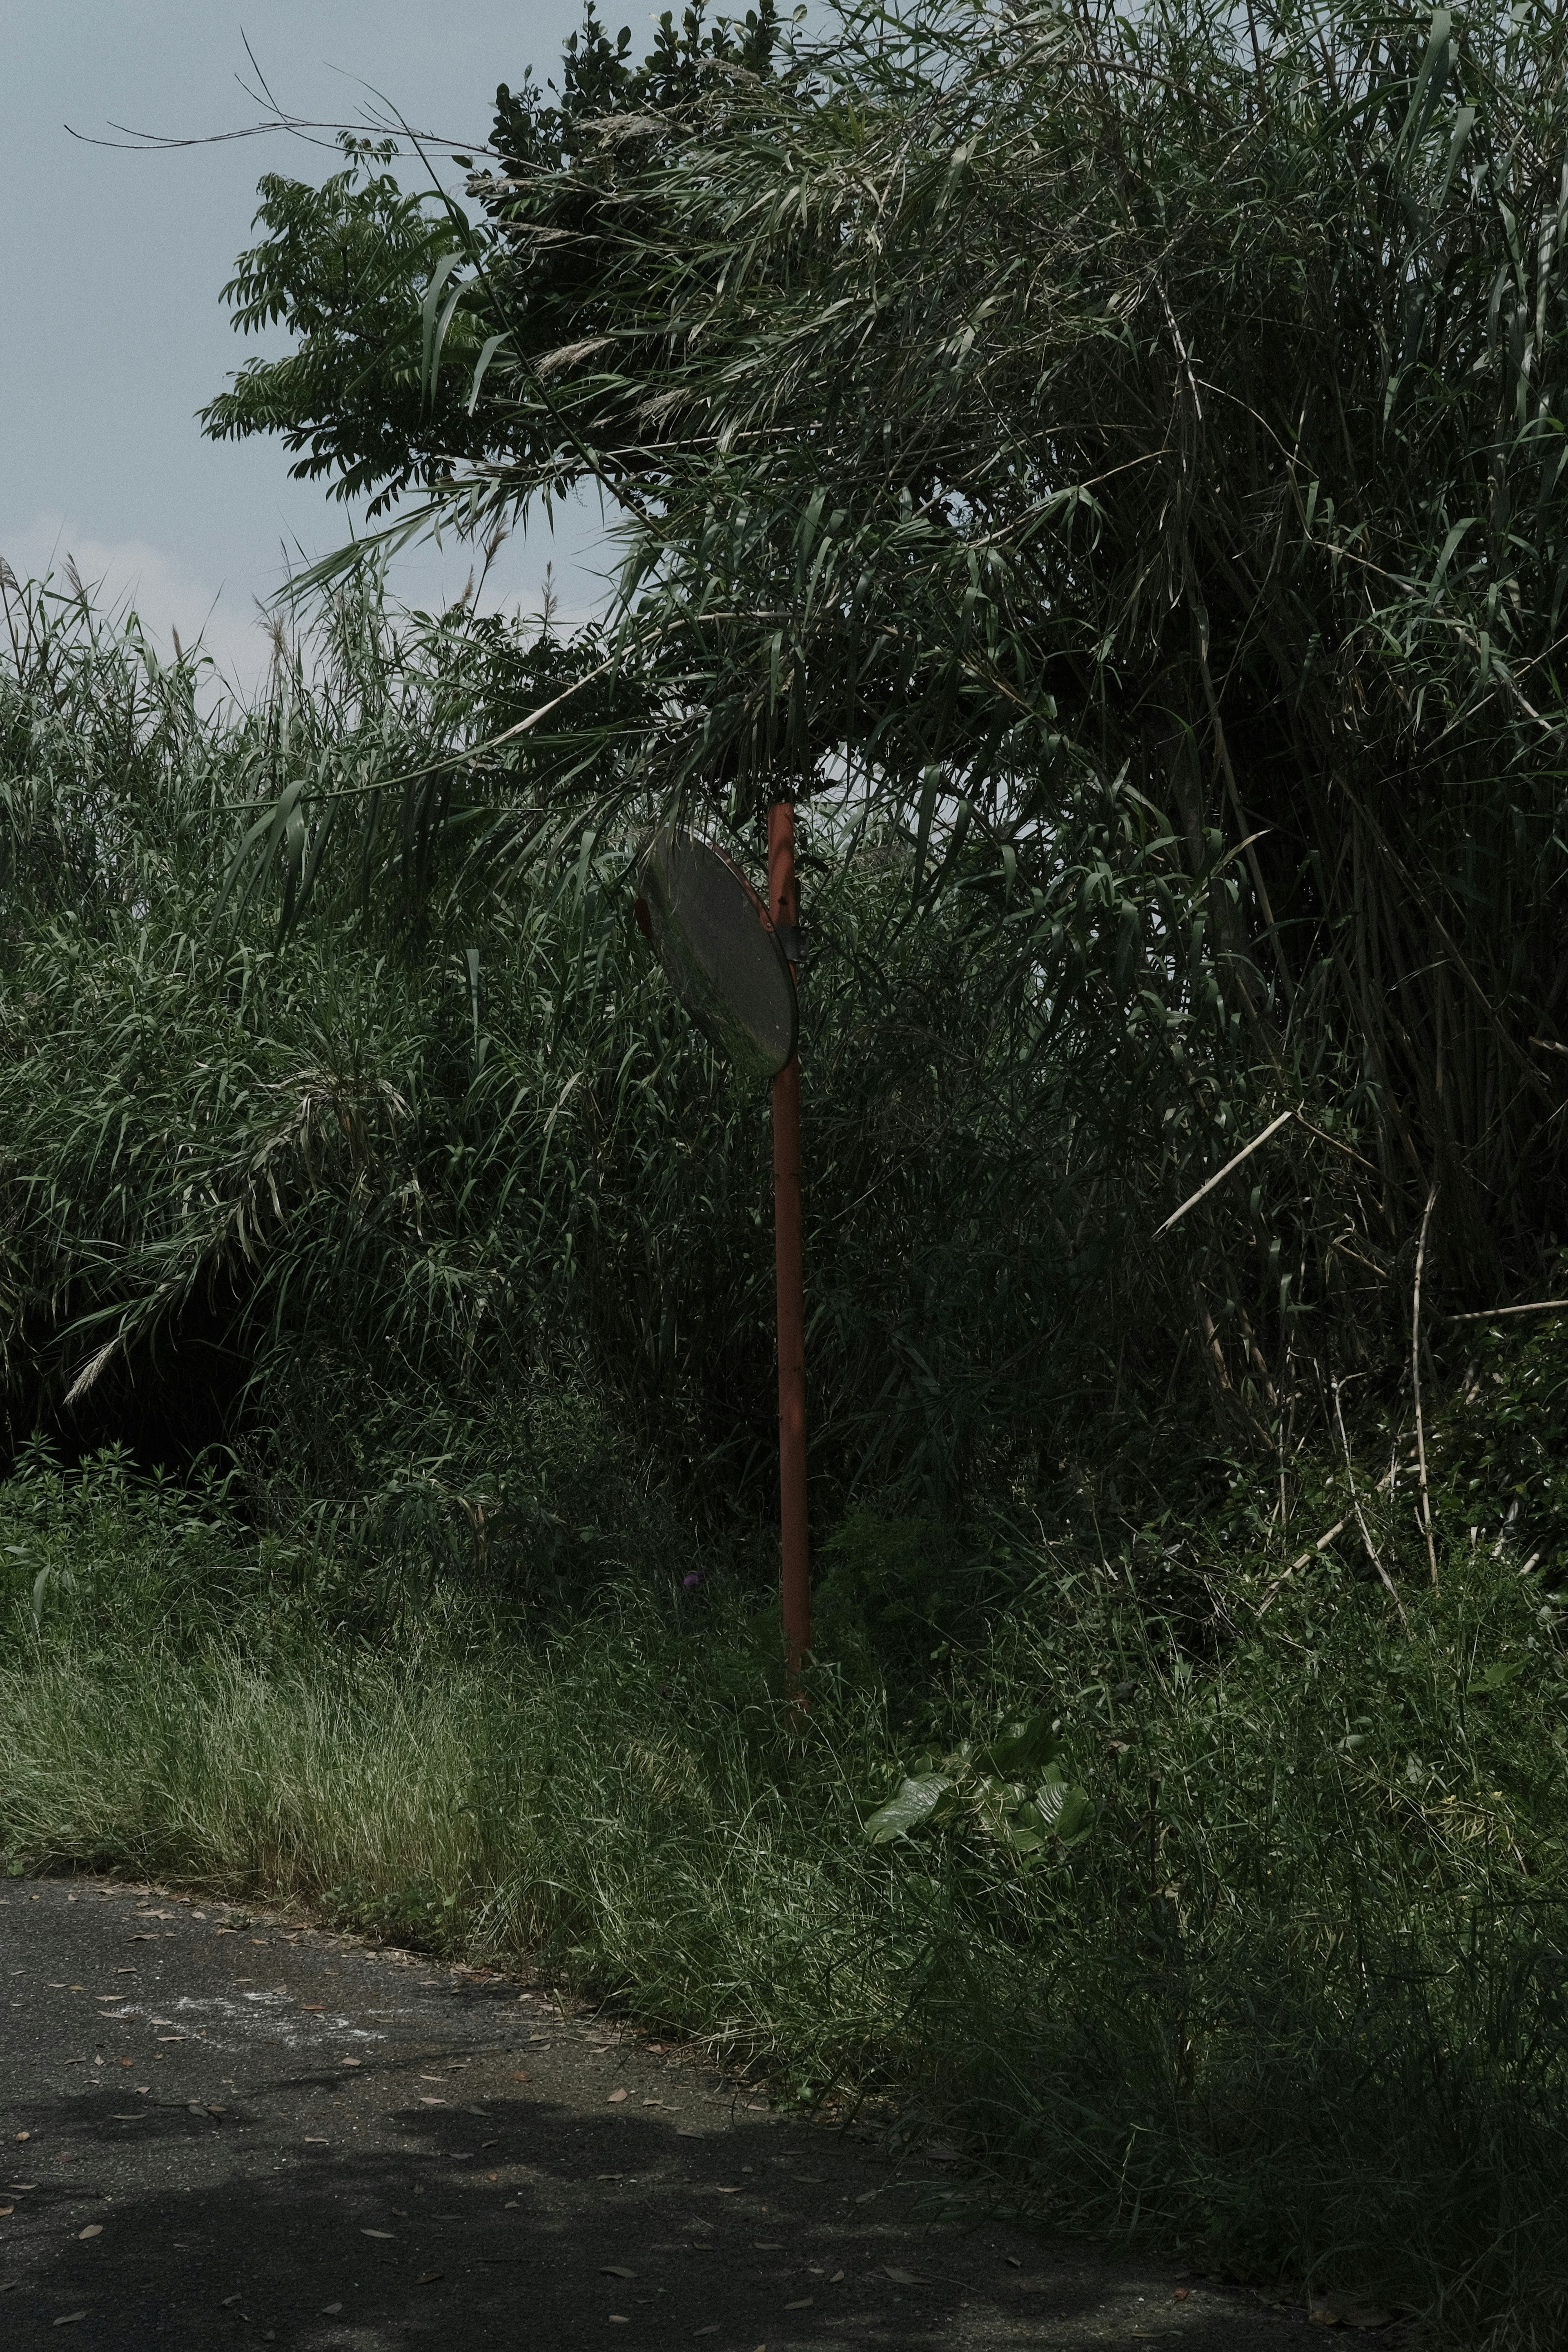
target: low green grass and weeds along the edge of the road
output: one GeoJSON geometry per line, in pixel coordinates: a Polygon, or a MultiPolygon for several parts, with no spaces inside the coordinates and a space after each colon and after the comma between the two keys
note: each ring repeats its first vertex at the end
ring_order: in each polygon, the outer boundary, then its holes
{"type": "Polygon", "coordinates": [[[1552,1578],[1507,1524],[1472,1541],[1462,1494],[1436,1590],[1403,1503],[1368,1519],[1403,1623],[1342,1545],[1276,1585],[1241,1505],[1168,1606],[1126,1555],[992,1529],[933,1616],[919,1522],[860,1515],[799,1712],[745,1559],[607,1559],[569,1609],[451,1569],[371,1604],[221,1486],[31,1456],[0,1489],[0,1842],[527,1957],[788,2100],[961,2138],[1056,2227],[1544,2347],[1568,1672],[1552,1578]],[[1095,1802],[1081,1844],[1020,1860],[964,1809],[867,1842],[917,1755],[1025,1717],[1095,1802]]]}

